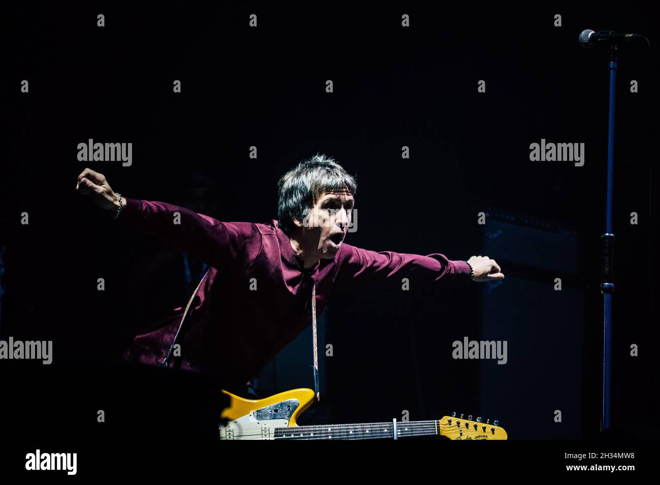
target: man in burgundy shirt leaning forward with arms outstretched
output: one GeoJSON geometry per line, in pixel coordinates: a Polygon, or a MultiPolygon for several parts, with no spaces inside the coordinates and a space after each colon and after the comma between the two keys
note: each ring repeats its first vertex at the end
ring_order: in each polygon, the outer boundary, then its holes
{"type": "Polygon", "coordinates": [[[244,389],[248,379],[312,324],[314,296],[319,313],[333,292],[363,285],[401,288],[402,278],[411,285],[444,277],[477,282],[504,278],[486,256],[451,261],[438,253],[376,252],[348,245],[344,238],[356,188],[339,164],[317,154],[280,179],[277,220],[220,222],[176,205],[124,197],[102,174],[83,170],[76,190],[113,211],[117,223],[158,236],[211,267],[187,313],[178,308],[135,337],[125,359],[160,365],[174,355],[167,366],[218,374],[224,389],[244,389]],[[184,314],[185,325],[180,325],[184,314]],[[175,337],[180,347],[170,352],[175,337]]]}

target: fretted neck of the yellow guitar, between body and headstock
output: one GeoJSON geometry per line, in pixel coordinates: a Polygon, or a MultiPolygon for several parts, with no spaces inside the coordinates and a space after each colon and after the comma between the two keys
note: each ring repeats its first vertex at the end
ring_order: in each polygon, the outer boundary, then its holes
{"type": "MultiPolygon", "coordinates": [[[[397,438],[442,434],[438,421],[397,421],[397,438]]],[[[394,439],[394,423],[325,424],[275,428],[275,439],[394,439]]]]}

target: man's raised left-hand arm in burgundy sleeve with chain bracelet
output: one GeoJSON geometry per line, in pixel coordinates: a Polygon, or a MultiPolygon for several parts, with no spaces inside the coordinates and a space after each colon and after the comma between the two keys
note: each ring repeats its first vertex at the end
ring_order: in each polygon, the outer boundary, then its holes
{"type": "MultiPolygon", "coordinates": [[[[115,213],[119,209],[119,197],[105,176],[89,168],[78,176],[76,191],[90,195],[102,209],[115,213]]],[[[236,258],[244,246],[236,226],[164,202],[141,201],[122,195],[117,220],[138,232],[158,236],[172,249],[187,251],[216,269],[222,269],[227,261],[236,258]]]]}

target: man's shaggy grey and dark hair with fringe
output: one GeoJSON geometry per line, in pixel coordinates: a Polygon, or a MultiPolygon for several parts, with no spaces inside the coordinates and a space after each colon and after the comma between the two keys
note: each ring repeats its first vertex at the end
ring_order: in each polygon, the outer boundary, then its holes
{"type": "Polygon", "coordinates": [[[312,209],[325,192],[348,189],[355,196],[358,184],[344,168],[325,154],[315,154],[284,174],[277,183],[278,225],[286,234],[302,221],[304,210],[312,209]]]}

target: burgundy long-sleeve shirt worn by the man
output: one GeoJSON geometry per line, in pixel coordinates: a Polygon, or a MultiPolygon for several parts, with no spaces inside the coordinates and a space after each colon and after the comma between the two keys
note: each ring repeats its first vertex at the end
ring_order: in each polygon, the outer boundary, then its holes
{"type": "MultiPolygon", "coordinates": [[[[333,292],[363,285],[401,288],[433,284],[447,275],[468,278],[464,261],[442,254],[426,256],[369,251],[345,242],[334,259],[304,269],[277,220],[267,224],[220,222],[162,202],[123,197],[116,220],[188,251],[211,269],[199,285],[186,317],[182,369],[220,375],[225,388],[239,388],[279,350],[312,323],[312,285],[317,314],[333,292]],[[174,224],[175,212],[180,224],[174,224]]],[[[159,364],[179,329],[185,307],[137,335],[125,360],[159,364]]],[[[172,360],[170,360],[170,363],[172,360]]],[[[170,364],[171,365],[171,364],[170,364]]]]}

